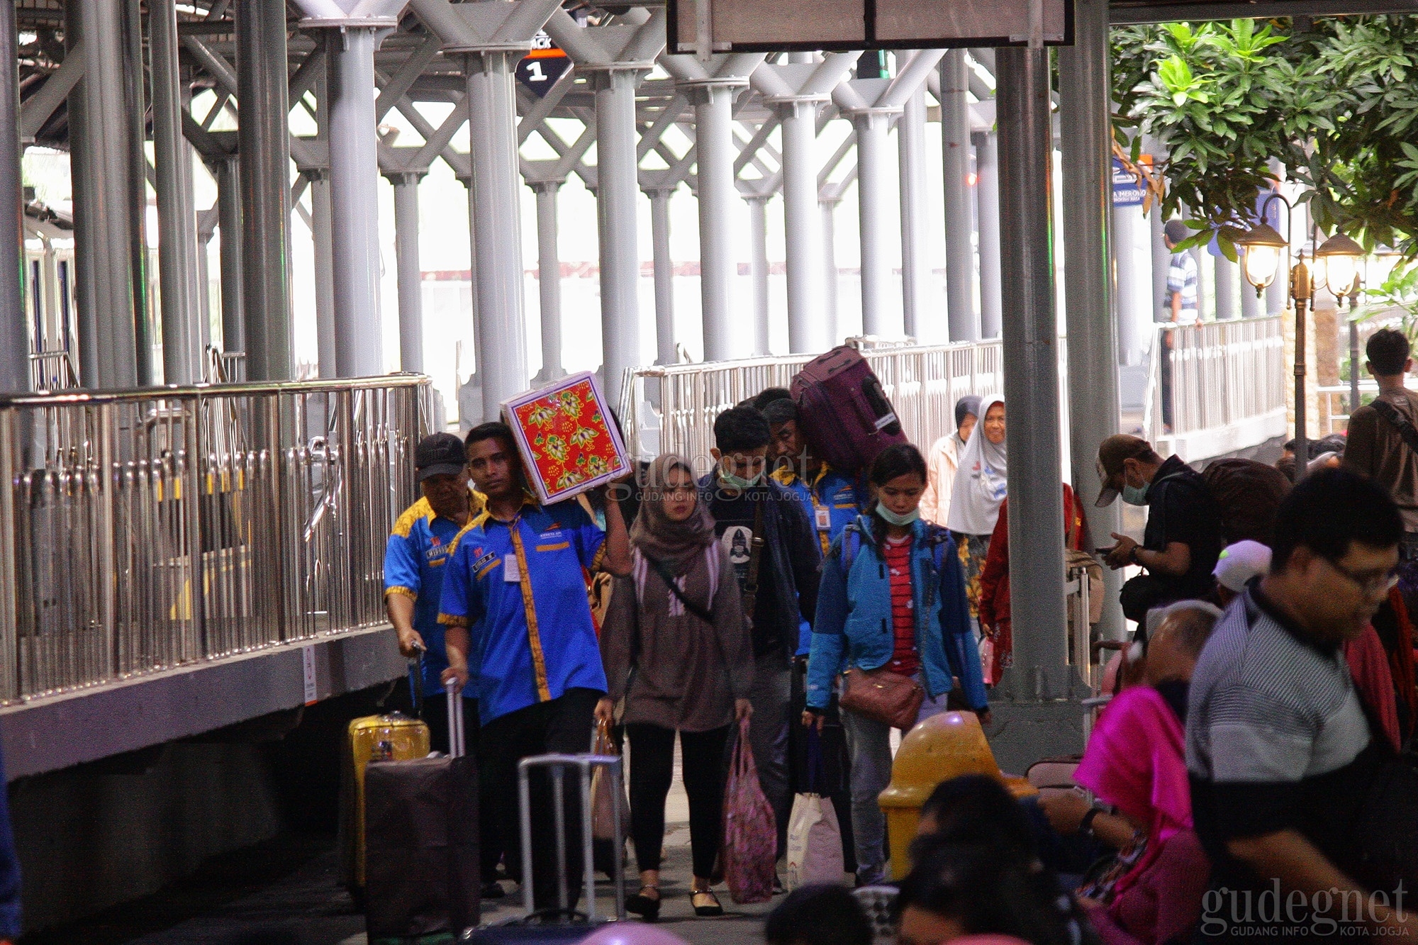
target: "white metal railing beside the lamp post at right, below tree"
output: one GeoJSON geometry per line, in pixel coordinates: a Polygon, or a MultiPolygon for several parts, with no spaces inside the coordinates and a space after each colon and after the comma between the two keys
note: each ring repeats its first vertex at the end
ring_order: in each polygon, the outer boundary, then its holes
{"type": "MultiPolygon", "coordinates": [[[[1143,416],[1153,443],[1285,420],[1282,316],[1157,325],[1143,416]],[[1166,338],[1171,346],[1166,346],[1166,338]],[[1163,358],[1171,359],[1171,424],[1163,417],[1163,358]]],[[[1166,455],[1166,453],[1164,453],[1166,455]]]]}

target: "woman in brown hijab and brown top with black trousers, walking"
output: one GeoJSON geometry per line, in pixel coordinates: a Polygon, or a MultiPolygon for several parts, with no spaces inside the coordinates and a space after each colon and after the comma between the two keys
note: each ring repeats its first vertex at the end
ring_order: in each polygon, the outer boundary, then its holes
{"type": "Polygon", "coordinates": [[[608,721],[614,702],[625,700],[631,836],[641,871],[640,892],[625,908],[648,921],[659,917],[665,796],[678,732],[695,874],[689,895],[696,915],[723,915],[709,877],[719,851],[729,725],[753,711],[753,643],[729,555],[715,541],[689,464],[662,455],[645,478],[630,529],[632,570],[617,579],[601,631],[608,692],[596,708],[608,721]]]}

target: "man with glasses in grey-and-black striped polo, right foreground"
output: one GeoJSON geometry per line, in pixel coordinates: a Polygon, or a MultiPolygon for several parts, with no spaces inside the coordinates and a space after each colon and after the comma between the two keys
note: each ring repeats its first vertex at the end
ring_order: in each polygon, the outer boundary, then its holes
{"type": "Polygon", "coordinates": [[[1373,481],[1347,470],[1306,477],[1276,514],[1269,573],[1231,604],[1201,653],[1187,770],[1215,867],[1205,901],[1221,918],[1210,929],[1202,921],[1211,938],[1418,935],[1405,875],[1412,847],[1388,850],[1418,843],[1415,809],[1375,788],[1400,762],[1374,736],[1341,651],[1387,599],[1402,534],[1398,508],[1373,481]],[[1370,827],[1375,812],[1381,830],[1370,827]],[[1232,917],[1235,897],[1278,908],[1232,917]]]}

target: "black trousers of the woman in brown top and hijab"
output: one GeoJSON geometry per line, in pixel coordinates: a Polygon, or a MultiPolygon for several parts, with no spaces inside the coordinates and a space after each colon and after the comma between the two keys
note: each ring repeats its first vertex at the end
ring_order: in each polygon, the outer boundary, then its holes
{"type": "MultiPolygon", "coordinates": [[[[630,824],[641,871],[659,868],[665,846],[665,796],[675,775],[675,729],[632,724],[630,736],[630,824]]],[[[729,726],[679,732],[685,793],[689,795],[689,849],[695,875],[713,875],[723,820],[723,746],[729,726]]]]}

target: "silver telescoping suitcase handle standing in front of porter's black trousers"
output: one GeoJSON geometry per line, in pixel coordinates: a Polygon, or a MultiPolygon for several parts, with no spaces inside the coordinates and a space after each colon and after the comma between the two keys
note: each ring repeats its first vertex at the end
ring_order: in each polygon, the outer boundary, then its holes
{"type": "Polygon", "coordinates": [[[596,863],[591,844],[591,772],[607,769],[611,779],[611,814],[615,822],[615,918],[625,918],[625,837],[621,834],[621,803],[625,788],[618,755],[535,755],[518,762],[518,812],[522,820],[522,902],[527,915],[536,911],[532,898],[532,769],[546,768],[552,779],[552,810],[556,814],[556,904],[564,912],[566,890],[566,769],[574,768],[581,776],[581,856],[586,860],[586,918],[596,921],[596,863]]]}

